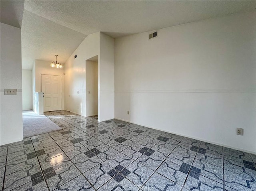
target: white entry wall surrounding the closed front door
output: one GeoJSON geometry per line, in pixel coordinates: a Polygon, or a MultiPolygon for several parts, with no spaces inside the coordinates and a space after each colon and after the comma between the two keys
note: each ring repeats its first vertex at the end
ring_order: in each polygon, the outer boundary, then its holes
{"type": "MultiPolygon", "coordinates": [[[[61,76],[61,87],[62,87],[62,98],[61,98],[61,108],[64,110],[65,108],[65,101],[64,101],[64,92],[65,92],[65,75],[64,75],[64,68],[65,65],[62,63],[63,68],[53,68],[50,66],[50,62],[36,60],[35,61],[35,92],[41,92],[41,74],[46,75],[57,75],[61,76]]],[[[35,95],[35,92],[33,94],[35,95]]],[[[33,108],[36,108],[36,103],[34,103],[33,108]]],[[[34,110],[35,111],[35,110],[34,110]]]]}

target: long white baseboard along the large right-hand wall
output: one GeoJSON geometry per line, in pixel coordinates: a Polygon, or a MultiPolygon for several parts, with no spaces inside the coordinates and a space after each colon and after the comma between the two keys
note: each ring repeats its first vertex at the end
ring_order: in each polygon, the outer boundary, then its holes
{"type": "Polygon", "coordinates": [[[152,128],[152,129],[155,129],[155,130],[164,131],[164,132],[167,132],[167,133],[172,133],[172,134],[176,134],[176,135],[196,139],[196,140],[203,141],[203,142],[208,142],[208,143],[211,143],[211,144],[216,144],[216,145],[219,145],[219,146],[231,148],[231,149],[234,149],[234,150],[239,150],[239,151],[242,151],[242,152],[248,152],[248,153],[251,153],[251,154],[256,154],[256,152],[253,152],[253,151],[244,150],[244,149],[240,149],[240,148],[232,147],[232,146],[229,146],[229,145],[225,145],[225,144],[221,144],[221,143],[217,143],[217,142],[213,142],[213,141],[209,141],[209,140],[204,140],[204,139],[200,139],[200,138],[197,138],[197,137],[192,137],[192,136],[188,136],[188,135],[184,135],[184,134],[179,134],[179,133],[176,133],[176,132],[170,132],[170,131],[158,129],[158,128],[155,128],[155,127],[145,126],[143,124],[138,124],[138,123],[135,123],[135,122],[132,122],[132,121],[129,121],[129,120],[124,120],[124,119],[120,119],[120,118],[115,118],[115,119],[125,121],[125,122],[129,122],[129,123],[133,123],[133,124],[140,125],[140,126],[144,126],[144,127],[148,127],[148,128],[152,128]]]}

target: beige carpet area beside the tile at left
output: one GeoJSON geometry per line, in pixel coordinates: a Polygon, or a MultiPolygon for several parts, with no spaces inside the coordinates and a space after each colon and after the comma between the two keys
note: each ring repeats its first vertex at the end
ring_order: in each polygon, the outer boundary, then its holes
{"type": "Polygon", "coordinates": [[[23,138],[44,134],[61,128],[44,115],[36,115],[32,110],[23,111],[23,138]]]}

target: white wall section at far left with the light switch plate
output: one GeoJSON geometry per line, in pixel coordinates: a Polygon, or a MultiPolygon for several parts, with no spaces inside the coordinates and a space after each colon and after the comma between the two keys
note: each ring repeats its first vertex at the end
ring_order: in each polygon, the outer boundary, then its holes
{"type": "Polygon", "coordinates": [[[0,144],[23,140],[21,30],[1,23],[1,128],[0,144]],[[17,89],[17,95],[4,95],[17,89]]]}

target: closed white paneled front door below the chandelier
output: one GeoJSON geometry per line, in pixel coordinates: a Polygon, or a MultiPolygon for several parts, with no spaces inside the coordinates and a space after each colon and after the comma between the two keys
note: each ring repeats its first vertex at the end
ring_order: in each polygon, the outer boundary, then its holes
{"type": "Polygon", "coordinates": [[[61,110],[61,77],[41,75],[41,91],[44,93],[44,112],[61,110]]]}

